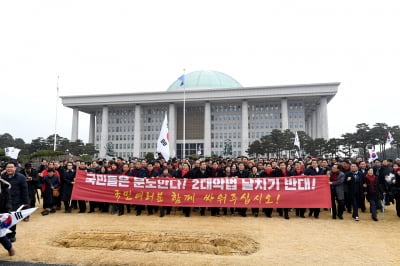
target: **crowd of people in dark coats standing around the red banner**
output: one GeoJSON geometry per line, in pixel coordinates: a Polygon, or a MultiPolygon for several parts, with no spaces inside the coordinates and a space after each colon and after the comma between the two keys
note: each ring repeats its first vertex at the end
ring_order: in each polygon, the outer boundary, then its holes
{"type": "MultiPolygon", "coordinates": [[[[116,204],[106,202],[86,202],[71,200],[72,189],[75,183],[77,169],[86,172],[103,174],[121,174],[141,178],[209,178],[209,177],[287,177],[287,176],[315,176],[327,175],[331,185],[332,219],[343,219],[343,213],[352,214],[355,221],[359,221],[359,210],[366,212],[367,201],[369,203],[371,219],[378,221],[377,211],[384,205],[396,204],[396,214],[400,217],[400,159],[379,160],[373,162],[363,158],[349,159],[265,159],[238,157],[234,159],[207,159],[207,160],[170,160],[163,159],[147,161],[144,159],[124,160],[113,158],[112,160],[93,160],[92,162],[50,161],[43,159],[37,167],[31,162],[22,167],[15,162],[3,163],[1,171],[1,204],[0,213],[17,210],[21,205],[25,208],[35,207],[37,202],[43,199],[42,215],[55,213],[64,207],[65,213],[71,213],[76,209],[79,213],[85,213],[89,207],[89,213],[95,211],[110,212],[111,214],[124,215],[125,210],[130,213],[134,208],[136,215],[142,212],[153,215],[159,212],[160,217],[169,215],[171,207],[143,206],[129,204],[116,204]],[[9,199],[7,192],[9,191],[9,199]],[[63,206],[62,206],[63,205],[63,206]]],[[[247,216],[247,208],[208,208],[212,216],[240,215],[247,216]]],[[[206,215],[205,207],[179,208],[183,215],[189,217],[192,211],[206,215]]],[[[279,216],[289,219],[289,213],[306,218],[305,208],[277,209],[279,216]]],[[[263,208],[266,217],[271,218],[273,209],[263,208]]],[[[259,216],[259,208],[251,208],[251,214],[259,216]]],[[[310,208],[309,217],[319,218],[320,209],[310,208]]],[[[24,221],[29,221],[29,217],[24,221]]],[[[0,238],[0,243],[9,251],[15,253],[12,242],[16,241],[16,226],[10,228],[11,233],[7,237],[0,238]]]]}

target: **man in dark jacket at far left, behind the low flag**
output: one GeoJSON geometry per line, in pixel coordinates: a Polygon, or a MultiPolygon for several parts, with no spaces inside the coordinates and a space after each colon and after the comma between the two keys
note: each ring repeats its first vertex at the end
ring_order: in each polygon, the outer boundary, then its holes
{"type": "MultiPolygon", "coordinates": [[[[11,211],[16,211],[21,205],[29,207],[28,183],[25,176],[17,173],[17,165],[9,162],[6,165],[6,172],[1,175],[1,178],[11,184],[11,211]]],[[[11,233],[7,237],[11,242],[16,241],[17,225],[9,228],[11,233]]]]}

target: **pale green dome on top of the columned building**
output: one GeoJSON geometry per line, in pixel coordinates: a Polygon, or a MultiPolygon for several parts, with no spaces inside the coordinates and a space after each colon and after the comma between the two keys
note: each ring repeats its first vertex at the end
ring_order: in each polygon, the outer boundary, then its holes
{"type": "Polygon", "coordinates": [[[185,74],[185,85],[180,86],[181,81],[175,80],[167,91],[185,89],[213,89],[213,88],[241,88],[243,87],[231,76],[213,70],[193,71],[185,74]]]}

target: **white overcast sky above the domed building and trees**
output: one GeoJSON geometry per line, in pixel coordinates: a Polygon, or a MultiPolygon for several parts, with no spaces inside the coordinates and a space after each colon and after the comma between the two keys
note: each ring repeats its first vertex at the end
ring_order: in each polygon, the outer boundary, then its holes
{"type": "MultiPolygon", "coordinates": [[[[54,134],[57,76],[60,95],[164,91],[183,68],[243,86],[341,82],[330,137],[399,125],[399,14],[399,1],[1,1],[0,134],[54,134]]],[[[58,134],[71,125],[59,100],[58,134]]]]}

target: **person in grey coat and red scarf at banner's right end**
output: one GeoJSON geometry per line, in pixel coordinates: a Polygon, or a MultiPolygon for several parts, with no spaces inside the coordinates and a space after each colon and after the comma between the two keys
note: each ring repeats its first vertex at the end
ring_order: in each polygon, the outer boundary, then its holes
{"type": "Polygon", "coordinates": [[[344,181],[345,174],[340,171],[339,166],[334,164],[329,172],[329,184],[331,185],[332,219],[336,216],[343,220],[344,212],[344,181]],[[336,208],[337,202],[337,208],[336,208]]]}

